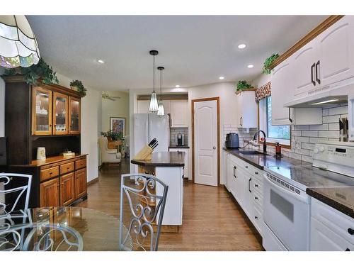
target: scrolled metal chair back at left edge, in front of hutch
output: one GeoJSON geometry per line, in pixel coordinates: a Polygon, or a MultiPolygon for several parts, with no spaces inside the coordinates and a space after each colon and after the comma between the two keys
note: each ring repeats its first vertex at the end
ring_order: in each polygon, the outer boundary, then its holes
{"type": "MultiPolygon", "coordinates": [[[[32,175],[30,174],[11,174],[0,173],[0,218],[4,216],[27,217],[28,203],[30,200],[30,185],[32,175]],[[5,189],[10,186],[13,178],[21,179],[21,185],[5,189]],[[2,188],[4,187],[4,188],[2,188]],[[6,203],[6,197],[11,198],[11,202],[6,203]],[[24,197],[23,206],[18,206],[21,197],[24,197]]],[[[21,201],[22,202],[22,201],[21,201]]]]}

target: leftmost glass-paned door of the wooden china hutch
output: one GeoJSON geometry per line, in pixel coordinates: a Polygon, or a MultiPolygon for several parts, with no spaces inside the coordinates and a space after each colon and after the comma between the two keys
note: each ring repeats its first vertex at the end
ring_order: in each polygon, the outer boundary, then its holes
{"type": "Polygon", "coordinates": [[[52,134],[52,92],[33,87],[32,135],[52,134]]]}

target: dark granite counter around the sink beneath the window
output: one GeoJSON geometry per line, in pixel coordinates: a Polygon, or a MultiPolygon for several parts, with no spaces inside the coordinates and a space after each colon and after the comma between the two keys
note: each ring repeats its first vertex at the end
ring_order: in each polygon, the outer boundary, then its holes
{"type": "Polygon", "coordinates": [[[258,169],[264,170],[264,167],[271,166],[295,166],[295,165],[311,165],[309,162],[304,162],[301,160],[292,159],[289,157],[275,158],[273,155],[243,155],[240,153],[241,150],[252,150],[249,148],[239,148],[238,150],[232,150],[223,148],[227,153],[239,157],[241,160],[248,162],[250,165],[257,167],[258,169]]]}

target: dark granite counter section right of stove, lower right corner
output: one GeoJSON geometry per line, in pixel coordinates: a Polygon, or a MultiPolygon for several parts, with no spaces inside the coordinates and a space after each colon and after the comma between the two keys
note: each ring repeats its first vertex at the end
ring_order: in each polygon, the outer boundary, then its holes
{"type": "Polygon", "coordinates": [[[354,218],[354,187],[313,187],[306,193],[354,218]]]}

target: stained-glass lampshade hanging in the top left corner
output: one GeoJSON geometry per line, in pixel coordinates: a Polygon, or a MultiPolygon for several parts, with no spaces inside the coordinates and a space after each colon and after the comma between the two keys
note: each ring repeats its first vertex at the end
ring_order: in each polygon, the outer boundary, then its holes
{"type": "Polygon", "coordinates": [[[40,60],[40,50],[25,16],[0,16],[0,66],[30,67],[40,60]]]}

